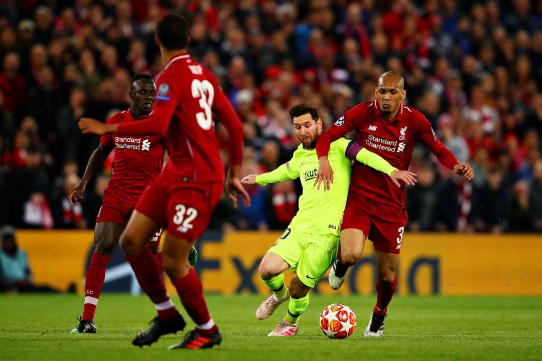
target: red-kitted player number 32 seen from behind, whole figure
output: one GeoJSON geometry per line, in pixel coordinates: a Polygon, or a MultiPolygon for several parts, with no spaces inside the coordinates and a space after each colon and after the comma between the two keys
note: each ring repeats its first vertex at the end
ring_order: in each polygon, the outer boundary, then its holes
{"type": "Polygon", "coordinates": [[[157,80],[156,103],[149,119],[131,124],[81,119],[79,126],[83,133],[166,135],[170,161],[141,196],[120,239],[141,288],[158,311],[150,329],[139,333],[132,344],[150,345],[163,334],[183,330],[186,325],[166,292],[156,259],[147,248],[149,237],[167,224],[162,266],[196,324],[196,329],[183,342],[170,348],[202,349],[222,340],[205,304],[201,281],[188,263],[190,248],[209,224],[224,183],[224,165],[212,114],[228,130],[226,189],[235,206],[240,195],[246,206],[250,204],[238,178],[243,128],[216,78],[186,54],[189,34],[186,20],[166,15],[158,22],[156,33],[166,65],[157,80]]]}

